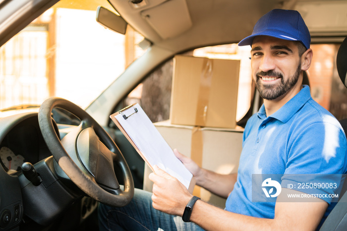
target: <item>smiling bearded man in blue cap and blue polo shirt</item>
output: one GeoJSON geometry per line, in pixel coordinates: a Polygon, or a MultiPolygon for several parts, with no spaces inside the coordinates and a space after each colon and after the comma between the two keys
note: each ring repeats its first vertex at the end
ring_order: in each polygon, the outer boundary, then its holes
{"type": "Polygon", "coordinates": [[[239,43],[245,45],[252,47],[252,77],[264,104],[247,121],[238,173],[201,169],[174,151],[198,185],[228,198],[226,209],[193,197],[177,179],[154,167],[155,173],[150,174],[153,194],[137,190],[123,208],[101,205],[101,229],[315,230],[321,225],[334,207],[329,195],[339,193],[340,174],[347,170],[347,142],[339,122],[312,100],[308,86],[302,86],[303,71],[313,56],[309,31],[297,11],[275,9],[260,18],[252,35],[239,43]],[[275,180],[266,177],[281,175],[282,190],[276,187],[275,202],[253,201],[257,174],[267,197],[274,193],[267,191],[266,183],[275,180]],[[338,179],[328,179],[331,174],[338,179]],[[316,187],[301,186],[310,183],[316,187]],[[323,189],[323,183],[328,187],[323,189]],[[297,201],[289,194],[305,199],[297,201]],[[187,204],[192,209],[185,209],[187,204]]]}

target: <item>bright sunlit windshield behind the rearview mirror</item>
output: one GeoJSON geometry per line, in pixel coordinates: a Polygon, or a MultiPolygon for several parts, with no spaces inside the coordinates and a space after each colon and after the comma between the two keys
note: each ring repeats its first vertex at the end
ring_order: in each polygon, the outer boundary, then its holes
{"type": "Polygon", "coordinates": [[[107,0],[61,0],[0,48],[0,110],[52,96],[86,108],[145,52],[131,27],[122,35],[96,21],[99,5],[116,12],[107,0]]]}

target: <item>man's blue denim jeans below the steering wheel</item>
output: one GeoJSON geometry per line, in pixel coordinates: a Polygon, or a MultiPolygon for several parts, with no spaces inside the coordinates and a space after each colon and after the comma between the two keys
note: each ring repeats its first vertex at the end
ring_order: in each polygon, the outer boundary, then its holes
{"type": "Polygon", "coordinates": [[[131,202],[120,208],[99,204],[100,231],[203,231],[198,225],[182,221],[152,207],[152,193],[135,188],[131,202]]]}

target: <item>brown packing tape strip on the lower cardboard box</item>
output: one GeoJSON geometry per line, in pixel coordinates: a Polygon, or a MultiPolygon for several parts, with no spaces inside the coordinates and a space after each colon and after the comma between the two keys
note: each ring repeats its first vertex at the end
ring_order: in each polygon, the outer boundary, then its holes
{"type": "MultiPolygon", "coordinates": [[[[201,127],[193,127],[191,132],[191,150],[190,158],[200,167],[202,167],[203,139],[201,127]]],[[[200,196],[201,187],[195,185],[193,195],[200,196]]]]}

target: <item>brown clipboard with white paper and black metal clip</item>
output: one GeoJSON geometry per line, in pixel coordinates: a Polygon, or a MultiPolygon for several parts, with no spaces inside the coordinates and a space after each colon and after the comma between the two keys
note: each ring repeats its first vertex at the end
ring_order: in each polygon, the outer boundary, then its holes
{"type": "Polygon", "coordinates": [[[110,117],[153,172],[152,166],[157,165],[193,192],[195,178],[192,173],[176,158],[139,104],[127,106],[110,117]]]}

